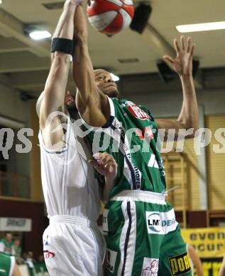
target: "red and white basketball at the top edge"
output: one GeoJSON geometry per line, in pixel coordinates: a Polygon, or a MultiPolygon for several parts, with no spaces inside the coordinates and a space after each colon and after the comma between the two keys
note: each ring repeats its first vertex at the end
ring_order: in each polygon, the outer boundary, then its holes
{"type": "Polygon", "coordinates": [[[131,24],[134,8],[131,0],[94,0],[87,7],[91,25],[106,35],[115,35],[131,24]]]}

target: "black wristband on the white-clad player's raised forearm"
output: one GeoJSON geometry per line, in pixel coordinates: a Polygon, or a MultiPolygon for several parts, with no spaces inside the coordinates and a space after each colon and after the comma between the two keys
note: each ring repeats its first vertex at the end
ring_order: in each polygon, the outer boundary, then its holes
{"type": "Polygon", "coordinates": [[[51,52],[64,52],[65,54],[73,54],[74,40],[67,38],[53,38],[51,52]]]}

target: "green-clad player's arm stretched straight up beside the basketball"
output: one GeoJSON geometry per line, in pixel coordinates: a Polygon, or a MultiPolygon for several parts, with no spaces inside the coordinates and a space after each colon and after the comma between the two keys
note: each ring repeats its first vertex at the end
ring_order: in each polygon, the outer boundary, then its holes
{"type": "Polygon", "coordinates": [[[77,85],[77,109],[87,124],[101,127],[109,118],[109,102],[94,79],[94,69],[87,45],[87,21],[82,6],[75,13],[75,53],[73,76],[77,85]]]}

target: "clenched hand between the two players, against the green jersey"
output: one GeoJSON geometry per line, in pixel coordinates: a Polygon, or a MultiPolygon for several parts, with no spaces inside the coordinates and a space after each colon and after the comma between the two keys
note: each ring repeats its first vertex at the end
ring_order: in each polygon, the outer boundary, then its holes
{"type": "Polygon", "coordinates": [[[94,154],[94,159],[90,159],[89,163],[94,166],[98,173],[110,180],[114,180],[117,176],[117,163],[113,156],[104,152],[103,154],[94,154]]]}

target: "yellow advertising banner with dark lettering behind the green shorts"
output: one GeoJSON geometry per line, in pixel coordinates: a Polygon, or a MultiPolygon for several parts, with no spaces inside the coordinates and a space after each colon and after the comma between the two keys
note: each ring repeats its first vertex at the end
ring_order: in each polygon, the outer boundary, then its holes
{"type": "Polygon", "coordinates": [[[186,243],[192,244],[200,258],[218,258],[225,254],[225,227],[182,229],[186,243]]]}

